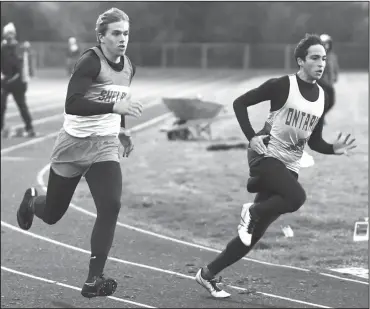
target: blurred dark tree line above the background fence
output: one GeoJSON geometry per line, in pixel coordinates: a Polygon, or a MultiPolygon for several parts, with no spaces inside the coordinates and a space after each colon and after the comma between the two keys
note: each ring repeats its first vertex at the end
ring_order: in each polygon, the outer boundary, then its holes
{"type": "Polygon", "coordinates": [[[368,45],[368,2],[1,2],[21,40],[95,41],[95,22],[125,11],[131,42],[296,43],[305,33],[368,45]]]}

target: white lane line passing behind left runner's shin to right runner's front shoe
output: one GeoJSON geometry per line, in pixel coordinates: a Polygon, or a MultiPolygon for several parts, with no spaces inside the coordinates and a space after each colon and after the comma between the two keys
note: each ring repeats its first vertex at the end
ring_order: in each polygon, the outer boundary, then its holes
{"type": "MultiPolygon", "coordinates": [[[[79,247],[68,245],[66,243],[63,243],[63,242],[60,242],[60,241],[57,241],[57,240],[54,240],[54,239],[51,239],[51,238],[48,238],[48,237],[44,237],[44,236],[38,235],[36,233],[24,231],[24,230],[22,230],[22,229],[20,229],[16,226],[11,225],[9,223],[6,223],[4,221],[1,221],[1,225],[5,226],[5,227],[7,227],[7,228],[9,228],[13,231],[23,233],[27,236],[31,236],[33,238],[43,240],[43,241],[52,243],[54,245],[65,247],[65,248],[68,248],[68,249],[71,249],[71,250],[74,250],[74,251],[78,251],[78,252],[81,252],[81,253],[85,253],[85,254],[88,254],[88,255],[91,254],[91,252],[89,250],[85,250],[85,249],[82,249],[82,248],[79,248],[79,247]]],[[[111,260],[111,261],[114,261],[114,262],[117,262],[117,263],[136,266],[136,267],[140,267],[140,268],[145,268],[145,269],[149,269],[149,270],[153,270],[153,271],[158,271],[158,272],[166,273],[166,274],[169,274],[169,275],[175,275],[175,276],[179,276],[179,277],[186,278],[186,279],[195,280],[195,277],[193,277],[193,276],[188,276],[188,275],[178,273],[178,272],[175,272],[175,271],[172,271],[172,270],[167,270],[167,269],[163,269],[163,268],[159,268],[159,267],[153,267],[153,266],[149,266],[149,265],[146,265],[146,264],[130,262],[130,261],[127,261],[127,260],[122,260],[122,259],[118,259],[118,258],[114,258],[114,257],[110,257],[110,256],[108,257],[108,260],[111,260]]],[[[235,290],[248,291],[247,289],[244,289],[244,288],[241,288],[241,287],[238,287],[238,286],[234,286],[234,285],[229,285],[228,284],[227,286],[232,288],[232,289],[235,289],[235,290]]],[[[289,298],[289,297],[283,297],[283,296],[279,296],[279,295],[274,295],[274,294],[270,294],[270,293],[264,293],[264,292],[256,292],[256,293],[261,294],[261,295],[265,295],[265,296],[269,296],[269,297],[272,297],[272,298],[288,300],[288,301],[293,302],[293,303],[300,303],[300,304],[305,304],[305,305],[309,305],[309,306],[313,306],[313,307],[319,307],[319,308],[331,308],[331,307],[328,307],[328,306],[323,306],[323,305],[319,305],[319,304],[315,304],[315,303],[311,303],[311,302],[305,302],[305,301],[301,301],[301,300],[297,300],[297,299],[293,299],[293,298],[289,298]]]]}

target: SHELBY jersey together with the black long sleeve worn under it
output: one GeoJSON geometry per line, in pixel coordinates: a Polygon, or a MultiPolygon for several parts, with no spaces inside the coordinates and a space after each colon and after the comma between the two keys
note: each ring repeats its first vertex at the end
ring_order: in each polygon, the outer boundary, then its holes
{"type": "Polygon", "coordinates": [[[134,74],[135,66],[127,56],[112,63],[100,47],[85,51],[68,85],[65,130],[79,137],[118,134],[124,116],[113,114],[113,105],[129,94],[134,74]]]}

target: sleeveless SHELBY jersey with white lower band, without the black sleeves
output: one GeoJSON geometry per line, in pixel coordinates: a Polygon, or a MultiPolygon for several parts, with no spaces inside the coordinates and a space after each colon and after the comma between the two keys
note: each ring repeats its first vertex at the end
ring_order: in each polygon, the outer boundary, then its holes
{"type": "MultiPolygon", "coordinates": [[[[91,84],[85,98],[99,103],[113,103],[122,100],[130,93],[132,65],[124,56],[124,68],[121,72],[114,71],[99,48],[93,50],[100,59],[101,69],[96,80],[91,84]]],[[[78,116],[66,114],[64,111],[64,130],[75,137],[87,136],[118,136],[121,126],[121,115],[102,114],[78,116]]]]}

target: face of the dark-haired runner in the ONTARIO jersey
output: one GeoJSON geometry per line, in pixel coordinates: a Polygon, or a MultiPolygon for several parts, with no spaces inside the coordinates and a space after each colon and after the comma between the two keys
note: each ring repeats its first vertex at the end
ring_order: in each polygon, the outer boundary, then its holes
{"type": "Polygon", "coordinates": [[[298,65],[306,78],[311,81],[319,80],[324,73],[326,65],[326,51],[324,46],[312,45],[307,50],[305,60],[298,58],[298,65]]]}

